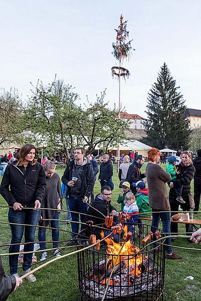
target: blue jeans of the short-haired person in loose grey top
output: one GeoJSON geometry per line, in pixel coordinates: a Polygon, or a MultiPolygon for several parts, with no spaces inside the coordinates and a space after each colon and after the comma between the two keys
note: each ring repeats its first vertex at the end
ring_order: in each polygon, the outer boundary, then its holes
{"type": "MultiPolygon", "coordinates": [[[[59,212],[55,211],[53,219],[50,222],[50,227],[57,228],[57,229],[59,228],[59,221],[56,221],[57,219],[59,219],[59,212]]],[[[38,224],[39,224],[39,226],[42,225],[41,223],[38,223],[38,224]]],[[[52,240],[53,241],[58,241],[59,240],[59,230],[57,230],[57,229],[51,229],[51,231],[52,231],[52,240]]],[[[46,241],[46,230],[47,230],[47,228],[39,228],[38,229],[38,240],[39,241],[46,241]]],[[[41,250],[46,249],[46,243],[45,242],[42,242],[42,243],[39,243],[39,244],[40,244],[40,249],[41,250]]],[[[53,245],[53,248],[58,248],[59,243],[58,242],[53,242],[52,245],[53,245]]]]}

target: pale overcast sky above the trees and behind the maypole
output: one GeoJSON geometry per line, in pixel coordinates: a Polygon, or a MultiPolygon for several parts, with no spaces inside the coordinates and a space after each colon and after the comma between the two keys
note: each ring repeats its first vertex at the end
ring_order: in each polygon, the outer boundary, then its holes
{"type": "Polygon", "coordinates": [[[111,54],[120,15],[128,20],[136,49],[123,66],[131,76],[121,85],[128,113],[145,117],[147,93],[166,62],[189,108],[200,105],[200,0],[1,0],[0,86],[18,88],[23,99],[31,84],[57,78],[75,87],[80,102],[118,104],[111,54]]]}

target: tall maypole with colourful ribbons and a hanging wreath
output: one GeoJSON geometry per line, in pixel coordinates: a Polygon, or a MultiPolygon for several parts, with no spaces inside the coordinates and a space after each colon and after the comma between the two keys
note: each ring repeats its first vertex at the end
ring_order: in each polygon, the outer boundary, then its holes
{"type": "MultiPolygon", "coordinates": [[[[130,72],[128,69],[122,67],[123,60],[126,58],[129,60],[130,58],[130,51],[132,50],[131,47],[131,41],[126,42],[129,37],[129,32],[127,31],[127,22],[123,22],[123,16],[120,17],[120,25],[118,29],[115,29],[117,32],[117,40],[116,43],[113,43],[113,49],[114,51],[112,54],[116,58],[116,60],[119,62],[119,66],[113,66],[112,67],[112,76],[114,78],[114,75],[119,80],[119,119],[121,118],[120,108],[121,108],[121,76],[124,77],[126,81],[126,77],[129,78],[130,72]]],[[[135,50],[135,49],[134,49],[135,50]]],[[[118,146],[118,153],[117,153],[117,169],[119,169],[120,165],[120,143],[118,146]]]]}

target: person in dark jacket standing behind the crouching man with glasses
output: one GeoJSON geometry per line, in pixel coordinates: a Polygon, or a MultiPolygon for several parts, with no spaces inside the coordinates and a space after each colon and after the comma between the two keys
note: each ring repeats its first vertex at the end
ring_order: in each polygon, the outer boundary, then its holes
{"type": "Polygon", "coordinates": [[[100,186],[109,186],[111,190],[114,189],[114,183],[112,180],[113,176],[113,165],[109,161],[109,155],[105,154],[103,156],[103,162],[100,164],[100,173],[98,180],[100,181],[100,186]]]}

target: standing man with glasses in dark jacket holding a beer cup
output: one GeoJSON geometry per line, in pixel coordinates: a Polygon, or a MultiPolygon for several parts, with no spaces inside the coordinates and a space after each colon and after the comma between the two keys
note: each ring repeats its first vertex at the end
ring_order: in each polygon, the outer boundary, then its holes
{"type": "MultiPolygon", "coordinates": [[[[79,232],[79,224],[73,221],[79,221],[79,213],[81,222],[84,221],[84,215],[87,212],[87,201],[93,191],[94,173],[89,160],[84,157],[85,151],[83,147],[77,147],[74,152],[74,160],[66,167],[61,181],[67,186],[66,197],[68,197],[68,206],[71,212],[71,236],[74,238],[79,232]]],[[[81,225],[81,230],[84,227],[81,225]]]]}

